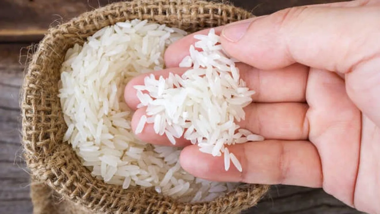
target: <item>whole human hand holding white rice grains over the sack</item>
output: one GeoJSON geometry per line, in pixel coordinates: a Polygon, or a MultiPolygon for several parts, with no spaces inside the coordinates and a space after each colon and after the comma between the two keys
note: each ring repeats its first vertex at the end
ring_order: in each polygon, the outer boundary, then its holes
{"type": "MultiPolygon", "coordinates": [[[[209,180],[323,187],[356,209],[380,213],[380,1],[291,8],[216,31],[257,92],[239,125],[267,140],[230,148],[241,173],[224,171],[222,157],[180,139],[187,146],[182,167],[209,180]]],[[[186,70],[177,67],[195,43],[192,36],[168,48],[169,69],[155,74],[186,70]]],[[[141,76],[126,87],[133,109],[132,86],[142,83],[141,76]]],[[[142,114],[135,112],[134,127],[142,114]]],[[[171,145],[150,126],[138,137],[171,145]]]]}

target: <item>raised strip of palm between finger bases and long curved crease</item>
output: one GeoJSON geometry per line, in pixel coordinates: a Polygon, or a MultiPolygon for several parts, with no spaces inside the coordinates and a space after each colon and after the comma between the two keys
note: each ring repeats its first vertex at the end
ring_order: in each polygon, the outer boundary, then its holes
{"type": "Polygon", "coordinates": [[[336,73],[310,69],[306,86],[309,141],[318,150],[323,188],[353,205],[358,173],[361,113],[336,73]]]}

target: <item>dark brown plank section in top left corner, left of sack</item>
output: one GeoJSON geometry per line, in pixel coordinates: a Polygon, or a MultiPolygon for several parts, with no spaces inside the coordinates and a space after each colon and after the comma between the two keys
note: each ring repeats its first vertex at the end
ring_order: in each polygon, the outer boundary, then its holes
{"type": "Polygon", "coordinates": [[[106,5],[109,0],[2,0],[0,41],[38,41],[51,25],[85,11],[106,5]]]}

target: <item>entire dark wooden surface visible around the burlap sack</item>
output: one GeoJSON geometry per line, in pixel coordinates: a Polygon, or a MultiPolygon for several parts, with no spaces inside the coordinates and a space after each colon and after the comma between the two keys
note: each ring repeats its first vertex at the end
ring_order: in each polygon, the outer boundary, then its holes
{"type": "MultiPolygon", "coordinates": [[[[50,25],[106,5],[109,0],[0,0],[0,213],[32,213],[29,176],[20,157],[19,87],[26,49],[50,25]]],[[[337,0],[232,0],[236,6],[268,14],[290,6],[337,0]]],[[[274,186],[249,214],[356,214],[321,189],[274,186]]]]}

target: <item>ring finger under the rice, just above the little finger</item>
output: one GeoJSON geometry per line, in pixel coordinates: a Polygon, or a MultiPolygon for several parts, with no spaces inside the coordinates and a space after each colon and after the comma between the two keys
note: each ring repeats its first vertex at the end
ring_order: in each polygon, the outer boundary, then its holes
{"type": "MultiPolygon", "coordinates": [[[[246,117],[238,124],[241,128],[260,134],[265,139],[306,140],[309,134],[309,123],[306,120],[308,106],[302,103],[257,103],[250,104],[244,111],[246,117]]],[[[145,109],[138,109],[132,118],[132,129],[144,115],[145,109]]],[[[153,124],[147,124],[137,137],[151,144],[172,146],[169,139],[154,132],[153,124]]],[[[183,147],[190,142],[183,137],[176,139],[176,145],[183,147]]]]}

